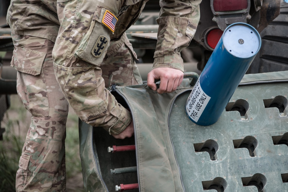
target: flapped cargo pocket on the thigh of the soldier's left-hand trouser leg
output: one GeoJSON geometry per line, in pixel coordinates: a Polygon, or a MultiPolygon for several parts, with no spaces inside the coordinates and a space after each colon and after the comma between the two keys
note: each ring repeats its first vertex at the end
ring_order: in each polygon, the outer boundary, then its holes
{"type": "Polygon", "coordinates": [[[15,47],[11,66],[17,73],[18,96],[27,110],[35,117],[49,114],[49,103],[42,65],[46,53],[15,47]]]}

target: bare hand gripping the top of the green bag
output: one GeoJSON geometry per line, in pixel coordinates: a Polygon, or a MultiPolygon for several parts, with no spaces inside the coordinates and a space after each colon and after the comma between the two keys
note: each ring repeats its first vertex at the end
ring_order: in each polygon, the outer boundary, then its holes
{"type": "Polygon", "coordinates": [[[155,79],[160,79],[160,86],[157,89],[159,94],[171,93],[177,89],[183,80],[184,73],[178,69],[169,67],[159,67],[152,69],[147,76],[147,85],[156,90],[155,79]]]}

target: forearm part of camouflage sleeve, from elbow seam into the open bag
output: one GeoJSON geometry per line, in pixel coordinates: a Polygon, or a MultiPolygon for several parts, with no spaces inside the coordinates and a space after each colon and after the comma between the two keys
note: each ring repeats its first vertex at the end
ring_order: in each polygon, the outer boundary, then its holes
{"type": "Polygon", "coordinates": [[[82,121],[103,127],[109,134],[119,134],[129,125],[129,111],[105,88],[99,67],[71,68],[54,63],[54,70],[67,101],[82,121]]]}

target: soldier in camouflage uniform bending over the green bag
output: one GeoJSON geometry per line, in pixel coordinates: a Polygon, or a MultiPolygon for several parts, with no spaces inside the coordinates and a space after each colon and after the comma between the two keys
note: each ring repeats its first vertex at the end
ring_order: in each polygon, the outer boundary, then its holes
{"type": "MultiPolygon", "coordinates": [[[[17,90],[32,120],[16,175],[17,191],[66,191],[68,103],[80,119],[115,138],[132,136],[129,111],[106,89],[142,83],[125,31],[148,0],[12,0],[7,14],[17,90]],[[53,63],[53,64],[52,64],[53,63]],[[54,66],[54,69],[53,69],[54,66]]],[[[172,92],[183,79],[180,51],[199,21],[201,0],[160,0],[148,85],[172,92]]]]}

